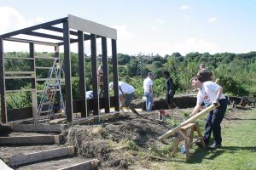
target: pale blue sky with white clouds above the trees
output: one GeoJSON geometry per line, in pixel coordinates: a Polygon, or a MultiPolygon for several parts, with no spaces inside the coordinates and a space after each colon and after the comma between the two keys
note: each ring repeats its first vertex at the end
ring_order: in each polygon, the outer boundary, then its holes
{"type": "Polygon", "coordinates": [[[0,0],[0,35],[68,14],[115,28],[122,54],[255,51],[256,0],[0,0]]]}

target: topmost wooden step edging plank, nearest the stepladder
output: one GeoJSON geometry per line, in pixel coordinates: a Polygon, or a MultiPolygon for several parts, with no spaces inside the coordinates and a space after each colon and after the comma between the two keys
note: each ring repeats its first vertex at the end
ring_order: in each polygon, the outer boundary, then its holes
{"type": "Polygon", "coordinates": [[[55,125],[44,125],[44,124],[13,124],[11,125],[13,131],[18,132],[49,132],[49,133],[61,133],[67,125],[55,124],[55,125]]]}

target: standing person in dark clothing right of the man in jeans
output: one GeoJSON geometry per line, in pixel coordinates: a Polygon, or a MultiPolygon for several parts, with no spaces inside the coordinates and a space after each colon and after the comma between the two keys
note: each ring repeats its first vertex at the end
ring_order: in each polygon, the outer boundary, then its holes
{"type": "Polygon", "coordinates": [[[172,77],[170,77],[169,71],[163,72],[164,77],[166,78],[166,103],[169,109],[173,109],[176,105],[173,102],[173,96],[175,94],[172,77]]]}

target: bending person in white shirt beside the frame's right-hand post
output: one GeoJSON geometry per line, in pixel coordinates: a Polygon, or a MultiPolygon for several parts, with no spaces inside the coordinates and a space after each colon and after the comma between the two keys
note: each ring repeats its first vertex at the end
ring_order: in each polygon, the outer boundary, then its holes
{"type": "MultiPolygon", "coordinates": [[[[113,82],[109,83],[109,89],[113,89],[113,82]]],[[[129,107],[135,88],[126,82],[119,82],[120,107],[129,107]]]]}

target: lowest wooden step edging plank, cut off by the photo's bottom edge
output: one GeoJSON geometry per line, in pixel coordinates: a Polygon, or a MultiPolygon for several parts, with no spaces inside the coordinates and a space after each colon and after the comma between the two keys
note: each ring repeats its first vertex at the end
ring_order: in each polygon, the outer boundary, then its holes
{"type": "Polygon", "coordinates": [[[58,170],[92,170],[96,169],[96,167],[99,165],[99,162],[99,160],[93,159],[90,161],[84,161],[83,163],[75,164],[73,166],[63,167],[58,170]]]}

